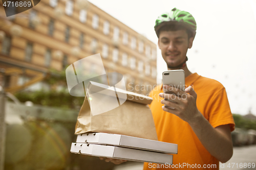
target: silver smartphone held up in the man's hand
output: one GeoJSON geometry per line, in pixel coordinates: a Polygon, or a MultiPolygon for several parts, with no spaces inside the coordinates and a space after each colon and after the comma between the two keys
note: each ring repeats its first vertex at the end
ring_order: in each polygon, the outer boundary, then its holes
{"type": "MultiPolygon", "coordinates": [[[[163,85],[172,85],[173,87],[176,87],[182,91],[185,91],[185,72],[183,69],[164,71],[162,76],[163,76],[163,85]]],[[[163,92],[169,93],[169,94],[174,94],[176,96],[178,95],[175,92],[170,91],[165,88],[163,88],[163,92]]],[[[167,100],[167,101],[174,102],[172,100],[167,100]]],[[[176,103],[176,102],[174,102],[174,103],[176,103]]],[[[171,108],[168,106],[165,106],[165,107],[171,108]]],[[[171,108],[171,109],[174,109],[174,108],[171,108]]]]}

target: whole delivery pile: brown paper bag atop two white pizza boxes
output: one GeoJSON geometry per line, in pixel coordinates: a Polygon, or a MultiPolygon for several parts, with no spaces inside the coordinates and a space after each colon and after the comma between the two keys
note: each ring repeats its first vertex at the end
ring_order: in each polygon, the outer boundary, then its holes
{"type": "Polygon", "coordinates": [[[90,82],[77,118],[77,140],[72,143],[71,152],[172,164],[171,154],[178,153],[178,145],[158,141],[148,107],[151,102],[152,98],[118,88],[118,84],[109,87],[90,82]]]}

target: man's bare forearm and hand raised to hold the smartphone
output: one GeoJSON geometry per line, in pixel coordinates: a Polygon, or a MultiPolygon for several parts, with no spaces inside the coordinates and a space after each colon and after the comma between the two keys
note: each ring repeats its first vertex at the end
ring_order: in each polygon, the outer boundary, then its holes
{"type": "Polygon", "coordinates": [[[162,107],[166,112],[175,114],[186,121],[193,129],[205,149],[222,163],[227,162],[233,155],[233,146],[229,125],[213,128],[207,119],[199,112],[196,105],[197,94],[189,86],[185,92],[177,88],[164,85],[165,89],[174,94],[160,93],[159,96],[174,102],[162,100],[161,103],[174,109],[162,107]],[[189,93],[189,94],[188,94],[189,93]]]}

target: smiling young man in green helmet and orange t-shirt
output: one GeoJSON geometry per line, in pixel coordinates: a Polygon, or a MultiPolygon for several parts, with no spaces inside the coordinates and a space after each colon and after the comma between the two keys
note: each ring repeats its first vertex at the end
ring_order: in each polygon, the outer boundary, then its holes
{"type": "MultiPolygon", "coordinates": [[[[153,98],[150,108],[158,140],[178,144],[178,154],[169,167],[219,169],[219,161],[224,163],[232,157],[234,122],[223,85],[192,74],[187,68],[186,53],[193,45],[196,28],[194,17],[176,8],[157,18],[155,31],[162,57],[168,70],[185,71],[187,88],[183,92],[175,87],[158,86],[150,93],[153,98]],[[179,93],[182,98],[163,93],[163,88],[179,93]]],[[[163,166],[144,164],[144,169],[161,169],[159,167],[163,166]]]]}

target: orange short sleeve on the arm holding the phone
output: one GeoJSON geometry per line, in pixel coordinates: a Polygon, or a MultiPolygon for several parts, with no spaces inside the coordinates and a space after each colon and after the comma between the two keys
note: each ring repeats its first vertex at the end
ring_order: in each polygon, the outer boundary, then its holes
{"type": "Polygon", "coordinates": [[[234,130],[234,119],[227,99],[227,93],[223,87],[212,95],[208,108],[209,123],[216,128],[221,125],[229,125],[230,131],[234,130]]]}

